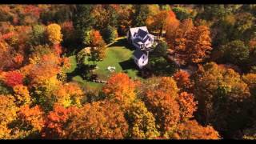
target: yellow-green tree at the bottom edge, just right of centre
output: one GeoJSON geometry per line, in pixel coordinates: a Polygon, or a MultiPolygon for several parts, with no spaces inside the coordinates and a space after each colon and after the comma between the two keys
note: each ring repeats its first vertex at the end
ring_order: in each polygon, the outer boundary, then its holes
{"type": "Polygon", "coordinates": [[[154,115],[146,109],[143,102],[134,102],[127,111],[129,138],[154,139],[159,136],[154,115]]]}

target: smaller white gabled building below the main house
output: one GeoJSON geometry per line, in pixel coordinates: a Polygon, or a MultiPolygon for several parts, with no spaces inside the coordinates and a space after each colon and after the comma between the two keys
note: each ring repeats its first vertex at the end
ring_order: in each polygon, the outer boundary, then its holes
{"type": "Polygon", "coordinates": [[[149,62],[148,52],[144,52],[142,50],[135,50],[133,55],[134,62],[140,69],[142,69],[143,66],[146,66],[146,64],[149,62]]]}

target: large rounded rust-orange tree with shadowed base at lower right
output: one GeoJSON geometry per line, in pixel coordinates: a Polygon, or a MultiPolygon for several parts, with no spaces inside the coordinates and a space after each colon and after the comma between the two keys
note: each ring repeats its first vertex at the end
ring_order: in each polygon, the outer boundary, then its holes
{"type": "Polygon", "coordinates": [[[254,99],[241,76],[214,62],[199,67],[195,77],[197,118],[221,134],[231,134],[250,122],[254,99]]]}

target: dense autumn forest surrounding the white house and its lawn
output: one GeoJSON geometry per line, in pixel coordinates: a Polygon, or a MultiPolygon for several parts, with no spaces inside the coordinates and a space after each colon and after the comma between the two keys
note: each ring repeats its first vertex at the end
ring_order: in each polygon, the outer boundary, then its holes
{"type": "Polygon", "coordinates": [[[255,21],[256,5],[1,5],[0,139],[255,139],[255,21]],[[157,38],[148,65],[94,86],[135,26],[157,38]]]}

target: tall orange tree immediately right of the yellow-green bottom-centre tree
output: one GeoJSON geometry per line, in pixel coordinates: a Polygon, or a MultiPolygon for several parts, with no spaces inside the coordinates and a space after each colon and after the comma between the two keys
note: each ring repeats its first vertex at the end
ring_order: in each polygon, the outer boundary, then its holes
{"type": "Polygon", "coordinates": [[[178,102],[178,87],[173,78],[151,78],[142,86],[142,99],[147,109],[154,114],[156,123],[162,134],[172,130],[180,121],[180,111],[178,102]]]}

